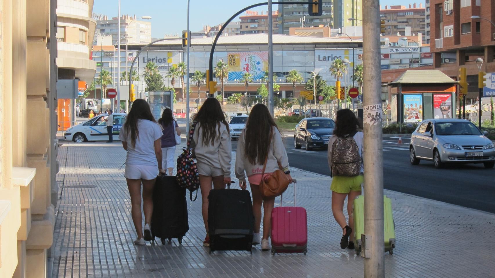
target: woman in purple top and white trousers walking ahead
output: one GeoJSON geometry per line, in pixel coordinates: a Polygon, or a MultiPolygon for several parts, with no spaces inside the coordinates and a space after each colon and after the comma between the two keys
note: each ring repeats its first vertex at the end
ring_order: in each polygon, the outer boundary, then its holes
{"type": "Polygon", "coordinates": [[[161,136],[161,152],[163,156],[163,169],[168,170],[168,175],[171,176],[174,170],[174,158],[175,158],[175,134],[181,135],[179,125],[177,121],[173,119],[172,110],[165,108],[161,114],[161,118],[158,119],[158,123],[161,124],[163,129],[163,135],[161,136]]]}

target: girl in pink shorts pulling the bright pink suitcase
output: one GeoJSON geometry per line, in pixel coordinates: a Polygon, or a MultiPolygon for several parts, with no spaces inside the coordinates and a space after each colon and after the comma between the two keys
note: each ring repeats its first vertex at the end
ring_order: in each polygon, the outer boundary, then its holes
{"type": "Polygon", "coordinates": [[[254,105],[249,114],[239,143],[235,172],[242,189],[246,189],[246,174],[252,193],[252,211],[254,214],[254,235],[252,244],[260,243],[261,205],[263,205],[263,239],[261,250],[270,250],[268,238],[271,231],[271,215],[275,198],[265,198],[259,188],[261,180],[269,177],[275,170],[281,169],[292,182],[289,171],[289,159],[285,150],[282,135],[273,120],[268,108],[261,103],[254,105]],[[272,136],[270,138],[270,135],[272,136]],[[266,163],[265,173],[262,175],[266,163]]]}

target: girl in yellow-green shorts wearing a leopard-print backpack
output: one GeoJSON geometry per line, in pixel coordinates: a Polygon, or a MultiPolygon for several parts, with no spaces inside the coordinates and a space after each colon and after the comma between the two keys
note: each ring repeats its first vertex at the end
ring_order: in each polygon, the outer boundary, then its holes
{"type": "MultiPolygon", "coordinates": [[[[373,116],[373,115],[372,115],[373,116]]],[[[349,109],[337,111],[334,134],[328,142],[328,165],[332,185],[332,213],[342,228],[341,248],[354,249],[352,228],[352,204],[361,194],[363,179],[363,133],[357,131],[359,122],[349,109]],[[344,201],[347,197],[347,214],[344,215],[344,201]],[[348,223],[348,225],[347,225],[348,223]],[[350,240],[349,240],[350,236],[350,240]]]]}

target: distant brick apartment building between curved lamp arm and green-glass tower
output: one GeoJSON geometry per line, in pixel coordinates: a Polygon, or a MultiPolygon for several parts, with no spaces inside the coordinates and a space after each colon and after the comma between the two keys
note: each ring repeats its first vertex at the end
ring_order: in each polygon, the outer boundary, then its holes
{"type": "MultiPolygon", "coordinates": [[[[241,16],[240,33],[265,34],[268,33],[268,13],[258,14],[257,11],[246,11],[246,15],[241,16]]],[[[278,33],[278,11],[272,12],[272,30],[278,33]]]]}

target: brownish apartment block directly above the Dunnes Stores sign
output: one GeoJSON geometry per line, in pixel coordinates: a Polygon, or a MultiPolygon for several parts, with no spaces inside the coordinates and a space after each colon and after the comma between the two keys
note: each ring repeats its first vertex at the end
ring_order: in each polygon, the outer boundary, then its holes
{"type": "Polygon", "coordinates": [[[422,34],[422,41],[426,43],[426,9],[422,3],[409,4],[409,7],[394,5],[380,9],[380,18],[385,21],[387,35],[414,36],[422,34]]]}

